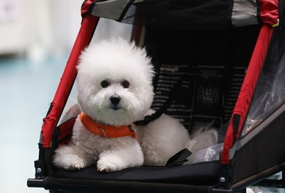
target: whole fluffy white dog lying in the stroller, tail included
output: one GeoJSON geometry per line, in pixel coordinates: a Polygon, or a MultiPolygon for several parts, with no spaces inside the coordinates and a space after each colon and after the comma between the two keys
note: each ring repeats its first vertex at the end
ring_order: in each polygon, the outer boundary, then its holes
{"type": "Polygon", "coordinates": [[[200,150],[215,144],[215,132],[199,132],[191,138],[179,121],[165,114],[148,125],[133,125],[138,140],[131,136],[133,131],[123,137],[115,134],[132,129],[131,123],[153,113],[153,77],[145,49],[134,43],[113,39],[90,45],[78,65],[81,114],[70,144],[56,150],[54,164],[63,169],[82,169],[97,163],[98,171],[104,172],[143,163],[163,166],[183,148],[200,150]]]}

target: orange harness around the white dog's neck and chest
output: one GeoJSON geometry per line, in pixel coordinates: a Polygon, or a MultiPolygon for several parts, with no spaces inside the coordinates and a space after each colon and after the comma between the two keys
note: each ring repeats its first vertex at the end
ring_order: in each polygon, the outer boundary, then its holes
{"type": "Polygon", "coordinates": [[[133,130],[131,125],[123,125],[121,127],[99,125],[94,123],[90,116],[84,114],[83,112],[80,114],[80,120],[88,131],[92,132],[93,134],[99,134],[101,137],[115,138],[132,136],[136,139],[136,132],[133,130]]]}

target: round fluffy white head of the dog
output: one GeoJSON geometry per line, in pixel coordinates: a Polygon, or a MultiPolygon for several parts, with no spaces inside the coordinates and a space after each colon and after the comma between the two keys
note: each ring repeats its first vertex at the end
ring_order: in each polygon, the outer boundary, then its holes
{"type": "Polygon", "coordinates": [[[134,43],[115,39],[90,45],[77,68],[79,105],[94,120],[127,125],[143,118],[152,105],[151,59],[134,43]]]}

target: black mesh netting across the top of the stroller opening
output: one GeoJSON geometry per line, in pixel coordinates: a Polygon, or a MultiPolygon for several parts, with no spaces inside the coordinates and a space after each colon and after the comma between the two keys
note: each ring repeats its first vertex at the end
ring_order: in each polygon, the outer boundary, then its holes
{"type": "MultiPolygon", "coordinates": [[[[234,26],[233,19],[239,23],[248,20],[243,4],[234,0],[112,0],[97,1],[92,15],[106,17],[127,24],[167,28],[222,28],[234,26]],[[238,8],[233,14],[233,8],[238,8]],[[241,9],[240,9],[241,7],[241,9]],[[240,14],[243,13],[243,14],[240,14]]],[[[245,5],[246,6],[246,5],[245,5]]],[[[254,6],[254,4],[253,4],[254,6]]],[[[253,16],[256,18],[256,16],[253,16]]],[[[254,21],[255,22],[255,21],[254,21]]],[[[238,23],[238,24],[239,24],[238,23]]],[[[256,23],[255,23],[256,24],[256,23]]]]}

